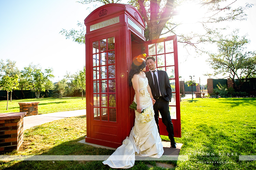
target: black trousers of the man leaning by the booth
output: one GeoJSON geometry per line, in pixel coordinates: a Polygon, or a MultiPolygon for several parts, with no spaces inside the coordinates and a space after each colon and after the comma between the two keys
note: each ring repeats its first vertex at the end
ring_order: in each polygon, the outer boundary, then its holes
{"type": "Polygon", "coordinates": [[[166,101],[163,97],[159,97],[159,99],[155,99],[155,100],[156,100],[156,103],[153,105],[153,108],[155,112],[155,121],[157,124],[158,133],[160,134],[159,125],[158,125],[158,121],[159,121],[158,118],[159,118],[159,112],[160,112],[162,117],[162,122],[166,126],[166,130],[168,132],[168,137],[171,140],[171,144],[174,144],[175,140],[174,140],[172,119],[169,111],[169,102],[166,101]]]}

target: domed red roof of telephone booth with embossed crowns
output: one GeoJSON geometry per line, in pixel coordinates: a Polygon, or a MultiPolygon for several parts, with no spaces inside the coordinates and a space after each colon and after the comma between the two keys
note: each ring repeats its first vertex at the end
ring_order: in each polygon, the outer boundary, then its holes
{"type": "Polygon", "coordinates": [[[145,29],[143,18],[135,7],[128,4],[110,3],[98,7],[85,18],[84,24],[86,26],[86,33],[90,32],[89,25],[104,21],[113,16],[120,16],[122,14],[133,17],[133,19],[138,21],[143,30],[145,29]]]}

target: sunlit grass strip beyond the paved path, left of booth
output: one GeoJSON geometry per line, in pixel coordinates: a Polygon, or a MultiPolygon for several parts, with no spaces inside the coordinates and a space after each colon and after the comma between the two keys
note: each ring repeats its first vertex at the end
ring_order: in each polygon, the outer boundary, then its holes
{"type": "Polygon", "coordinates": [[[9,101],[8,111],[6,111],[7,100],[0,101],[0,113],[19,112],[19,102],[39,102],[38,114],[86,109],[86,100],[85,98],[82,100],[82,97],[39,98],[9,101]]]}

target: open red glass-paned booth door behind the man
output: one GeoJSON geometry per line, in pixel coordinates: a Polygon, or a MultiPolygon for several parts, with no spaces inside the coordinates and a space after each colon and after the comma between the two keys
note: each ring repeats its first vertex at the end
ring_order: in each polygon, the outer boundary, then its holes
{"type": "MultiPolygon", "coordinates": [[[[181,137],[180,85],[177,54],[177,36],[154,39],[144,43],[147,56],[156,58],[156,68],[165,70],[172,88],[172,100],[169,102],[170,115],[174,127],[174,137],[181,137]]],[[[159,114],[160,135],[168,136],[166,126],[159,114]]]]}

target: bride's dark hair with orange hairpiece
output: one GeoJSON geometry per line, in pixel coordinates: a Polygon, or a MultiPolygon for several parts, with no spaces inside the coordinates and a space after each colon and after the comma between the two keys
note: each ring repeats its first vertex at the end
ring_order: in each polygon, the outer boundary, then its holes
{"type": "Polygon", "coordinates": [[[143,68],[146,67],[146,62],[143,58],[135,58],[131,64],[131,71],[129,73],[128,81],[129,81],[129,86],[132,86],[131,79],[134,74],[139,74],[140,71],[143,70],[143,68]]]}

